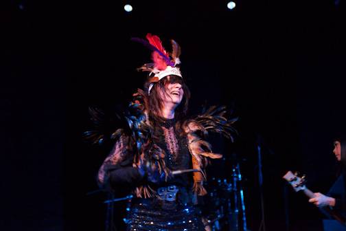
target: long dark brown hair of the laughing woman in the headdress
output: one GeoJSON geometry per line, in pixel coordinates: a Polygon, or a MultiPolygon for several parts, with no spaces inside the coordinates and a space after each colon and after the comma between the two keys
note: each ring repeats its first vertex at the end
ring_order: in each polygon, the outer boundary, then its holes
{"type": "MultiPolygon", "coordinates": [[[[161,114],[161,109],[163,108],[163,99],[161,98],[161,95],[159,94],[159,91],[164,92],[167,94],[165,86],[169,83],[180,83],[181,87],[184,91],[183,100],[181,100],[181,103],[176,107],[174,111],[174,117],[175,119],[181,120],[185,117],[187,113],[187,109],[189,106],[189,98],[190,98],[190,91],[187,85],[184,83],[183,78],[180,76],[166,76],[165,78],[162,78],[158,83],[154,83],[154,86],[150,90],[149,95],[149,116],[153,118],[154,120],[161,121],[163,116],[161,114]]],[[[148,86],[150,85],[149,82],[145,84],[146,89],[148,89],[148,86]]],[[[170,97],[167,94],[168,97],[170,97]]]]}

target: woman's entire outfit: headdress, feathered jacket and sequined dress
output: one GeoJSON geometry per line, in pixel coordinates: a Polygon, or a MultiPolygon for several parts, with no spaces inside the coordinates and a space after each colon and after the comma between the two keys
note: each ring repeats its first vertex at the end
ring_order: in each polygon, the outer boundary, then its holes
{"type": "MultiPolygon", "coordinates": [[[[204,230],[196,208],[197,197],[207,193],[203,187],[207,157],[220,158],[222,155],[212,153],[203,137],[212,131],[233,140],[232,124],[236,119],[224,118],[224,107],[211,107],[195,118],[177,121],[151,115],[149,97],[154,83],[169,75],[181,77],[176,66],[180,63],[180,48],[172,41],[175,52],[170,60],[157,36],[149,34],[147,39],[155,45],[152,48],[146,44],[154,51],[154,62],[164,56],[165,65],[159,68],[161,60],[159,65],[141,67],[154,76],[149,80],[148,91],[138,89],[133,95],[124,114],[128,128],[117,129],[111,135],[116,143],[99,170],[98,183],[111,191],[119,187],[132,189],[135,199],[128,212],[128,230],[204,230]],[[187,169],[193,173],[176,172],[187,169]]],[[[91,114],[95,120],[99,118],[97,111],[91,110],[91,114]]],[[[87,135],[96,142],[104,138],[97,131],[87,135]]]]}

